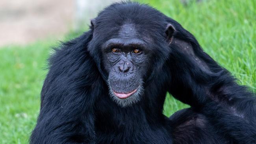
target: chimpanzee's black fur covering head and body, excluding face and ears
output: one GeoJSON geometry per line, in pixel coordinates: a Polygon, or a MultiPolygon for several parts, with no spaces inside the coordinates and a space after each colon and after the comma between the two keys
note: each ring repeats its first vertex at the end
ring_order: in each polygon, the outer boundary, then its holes
{"type": "Polygon", "coordinates": [[[156,50],[142,99],[130,107],[111,100],[97,44],[113,33],[93,37],[91,26],[50,57],[31,144],[256,143],[255,97],[204,53],[191,33],[159,11],[131,2],[107,7],[96,21],[103,33],[127,19],[154,35],[152,44],[167,56],[156,50]],[[169,45],[167,24],[175,30],[169,45]],[[167,118],[162,114],[166,92],[191,108],[167,118]]]}

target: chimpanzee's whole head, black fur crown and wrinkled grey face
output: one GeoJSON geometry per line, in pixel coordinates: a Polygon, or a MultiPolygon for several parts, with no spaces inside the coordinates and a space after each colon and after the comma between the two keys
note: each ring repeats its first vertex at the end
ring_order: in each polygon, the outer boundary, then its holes
{"type": "Polygon", "coordinates": [[[174,28],[165,15],[135,3],[113,4],[91,20],[89,51],[109,95],[122,107],[138,102],[163,66],[174,28]]]}

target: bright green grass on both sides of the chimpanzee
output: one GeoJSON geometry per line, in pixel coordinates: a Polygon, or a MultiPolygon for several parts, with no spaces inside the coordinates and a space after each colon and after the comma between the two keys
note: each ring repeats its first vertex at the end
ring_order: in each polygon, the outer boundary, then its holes
{"type": "MultiPolygon", "coordinates": [[[[179,0],[144,2],[180,22],[240,84],[256,92],[255,0],[205,0],[187,6],[179,0]]],[[[0,48],[0,144],[28,143],[39,113],[46,59],[56,43],[46,39],[0,48]]],[[[184,107],[168,96],[164,113],[184,107]]]]}

